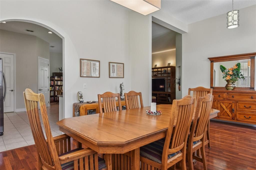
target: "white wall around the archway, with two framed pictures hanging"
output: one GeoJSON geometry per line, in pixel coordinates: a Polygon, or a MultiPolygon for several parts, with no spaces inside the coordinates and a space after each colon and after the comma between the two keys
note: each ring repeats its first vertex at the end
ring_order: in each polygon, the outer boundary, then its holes
{"type": "Polygon", "coordinates": [[[1,20],[36,21],[64,37],[65,117],[72,116],[78,91],[88,101],[105,91],[119,92],[122,82],[124,92],[131,90],[129,13],[110,1],[1,1],[0,7],[1,20]],[[80,77],[80,58],[100,60],[100,78],[80,77]],[[124,63],[124,79],[109,78],[109,61],[124,63]]]}

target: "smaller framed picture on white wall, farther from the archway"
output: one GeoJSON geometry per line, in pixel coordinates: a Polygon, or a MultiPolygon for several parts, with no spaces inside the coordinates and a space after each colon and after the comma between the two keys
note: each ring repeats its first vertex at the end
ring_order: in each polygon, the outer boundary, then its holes
{"type": "Polygon", "coordinates": [[[109,78],[124,78],[124,63],[109,62],[109,78]]]}

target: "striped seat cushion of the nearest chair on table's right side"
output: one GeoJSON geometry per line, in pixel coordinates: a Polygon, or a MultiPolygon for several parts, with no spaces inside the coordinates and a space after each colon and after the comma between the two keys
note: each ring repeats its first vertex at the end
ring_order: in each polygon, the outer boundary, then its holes
{"type": "MultiPolygon", "coordinates": [[[[157,140],[155,142],[149,143],[140,148],[140,156],[155,161],[157,163],[162,163],[162,154],[164,149],[165,138],[157,140]]],[[[172,153],[168,155],[168,159],[177,155],[181,151],[172,153]]]]}

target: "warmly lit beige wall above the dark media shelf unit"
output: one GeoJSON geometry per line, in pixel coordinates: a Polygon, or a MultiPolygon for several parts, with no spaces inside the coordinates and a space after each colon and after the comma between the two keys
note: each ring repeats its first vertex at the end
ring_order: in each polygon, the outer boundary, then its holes
{"type": "Polygon", "coordinates": [[[171,63],[171,66],[176,66],[176,50],[152,54],[152,67],[155,64],[157,67],[164,67],[168,63],[171,63]]]}

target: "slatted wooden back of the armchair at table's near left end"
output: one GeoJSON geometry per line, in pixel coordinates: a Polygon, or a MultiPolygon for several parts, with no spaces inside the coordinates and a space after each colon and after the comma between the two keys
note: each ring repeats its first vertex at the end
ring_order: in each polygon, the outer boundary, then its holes
{"type": "Polygon", "coordinates": [[[49,126],[44,95],[36,94],[31,89],[26,89],[25,92],[23,92],[23,94],[31,131],[33,134],[33,138],[35,140],[37,151],[39,153],[38,155],[40,156],[40,158],[38,159],[41,159],[42,163],[48,169],[61,169],[58,154],[55,148],[55,144],[49,126]],[[45,128],[47,142],[44,137],[44,133],[40,122],[38,102],[40,105],[41,116],[45,128]]]}

